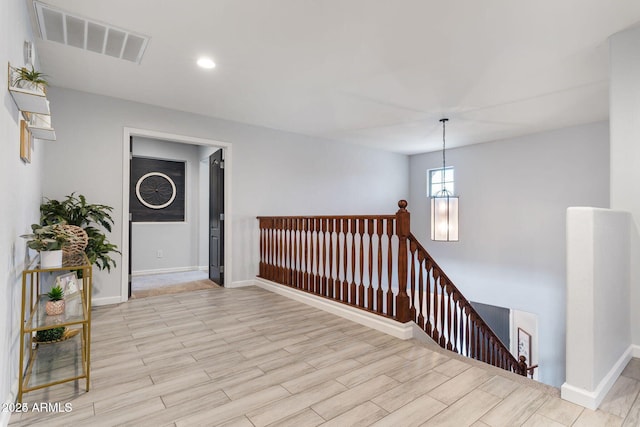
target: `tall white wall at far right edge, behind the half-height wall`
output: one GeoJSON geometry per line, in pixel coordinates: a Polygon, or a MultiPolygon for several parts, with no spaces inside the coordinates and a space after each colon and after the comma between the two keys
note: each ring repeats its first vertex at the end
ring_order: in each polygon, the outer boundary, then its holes
{"type": "Polygon", "coordinates": [[[610,39],[611,208],[631,212],[633,343],[640,345],[640,28],[610,39]]]}

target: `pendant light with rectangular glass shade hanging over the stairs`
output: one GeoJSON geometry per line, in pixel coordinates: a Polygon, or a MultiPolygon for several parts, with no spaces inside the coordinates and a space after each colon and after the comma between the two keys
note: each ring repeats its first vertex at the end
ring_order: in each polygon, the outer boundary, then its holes
{"type": "Polygon", "coordinates": [[[445,124],[449,119],[440,119],[442,123],[442,189],[431,196],[431,240],[438,242],[458,241],[458,197],[445,185],[445,124]]]}

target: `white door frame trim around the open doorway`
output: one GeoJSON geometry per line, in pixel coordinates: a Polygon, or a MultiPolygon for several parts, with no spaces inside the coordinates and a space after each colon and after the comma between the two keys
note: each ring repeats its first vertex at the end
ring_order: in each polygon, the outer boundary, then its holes
{"type": "Polygon", "coordinates": [[[185,135],[175,135],[166,132],[158,132],[147,129],[124,128],[122,150],[122,287],[120,301],[129,300],[129,141],[132,136],[158,139],[162,141],[178,142],[183,144],[205,145],[223,149],[224,156],[224,283],[229,287],[233,283],[233,266],[231,262],[231,221],[233,218],[233,205],[231,203],[231,177],[232,155],[231,144],[213,139],[197,138],[185,135]]]}

